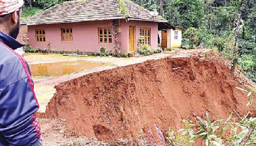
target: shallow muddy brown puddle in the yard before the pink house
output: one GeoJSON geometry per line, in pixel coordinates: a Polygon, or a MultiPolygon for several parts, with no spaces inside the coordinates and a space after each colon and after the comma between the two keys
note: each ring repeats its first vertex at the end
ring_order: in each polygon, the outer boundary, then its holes
{"type": "Polygon", "coordinates": [[[105,63],[97,63],[85,60],[64,61],[29,65],[32,76],[62,76],[70,73],[91,69],[105,63]]]}

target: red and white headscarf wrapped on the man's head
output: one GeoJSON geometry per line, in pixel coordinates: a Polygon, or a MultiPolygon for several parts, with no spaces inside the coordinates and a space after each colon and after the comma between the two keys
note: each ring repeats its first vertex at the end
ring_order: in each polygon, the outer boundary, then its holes
{"type": "Polygon", "coordinates": [[[0,16],[14,12],[23,4],[23,0],[0,0],[0,16]]]}

